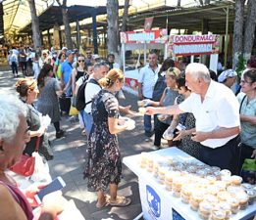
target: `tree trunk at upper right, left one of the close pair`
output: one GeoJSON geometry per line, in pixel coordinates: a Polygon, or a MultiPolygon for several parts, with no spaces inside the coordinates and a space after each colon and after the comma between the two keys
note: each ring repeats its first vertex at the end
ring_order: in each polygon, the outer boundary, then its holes
{"type": "Polygon", "coordinates": [[[244,0],[235,1],[235,18],[233,21],[232,68],[235,69],[238,57],[242,54],[244,0]]]}

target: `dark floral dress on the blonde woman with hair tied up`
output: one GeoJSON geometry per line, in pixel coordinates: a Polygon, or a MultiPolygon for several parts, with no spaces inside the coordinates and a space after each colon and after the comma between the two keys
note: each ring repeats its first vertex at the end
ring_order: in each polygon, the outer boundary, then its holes
{"type": "Polygon", "coordinates": [[[102,89],[92,101],[93,125],[88,141],[84,177],[89,191],[106,191],[109,184],[119,184],[122,162],[118,137],[108,128],[108,117],[118,118],[119,103],[115,95],[102,89]]]}

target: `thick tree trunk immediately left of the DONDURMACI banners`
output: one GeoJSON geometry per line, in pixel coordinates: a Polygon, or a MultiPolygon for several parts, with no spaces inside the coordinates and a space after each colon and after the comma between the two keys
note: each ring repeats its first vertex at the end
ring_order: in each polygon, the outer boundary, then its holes
{"type": "Polygon", "coordinates": [[[113,53],[116,58],[119,45],[119,1],[107,0],[107,20],[108,20],[108,53],[113,53]]]}

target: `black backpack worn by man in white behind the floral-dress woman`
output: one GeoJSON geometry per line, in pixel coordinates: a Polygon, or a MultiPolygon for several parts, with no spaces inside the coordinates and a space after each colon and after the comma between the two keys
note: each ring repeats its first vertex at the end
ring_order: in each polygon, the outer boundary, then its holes
{"type": "Polygon", "coordinates": [[[84,78],[83,83],[79,86],[79,88],[77,90],[77,97],[76,97],[76,108],[77,108],[77,110],[84,110],[86,105],[88,105],[92,102],[90,100],[89,102],[85,103],[84,90],[85,90],[85,86],[87,85],[88,82],[98,85],[98,82],[95,79],[91,78],[90,80],[86,80],[84,78]]]}

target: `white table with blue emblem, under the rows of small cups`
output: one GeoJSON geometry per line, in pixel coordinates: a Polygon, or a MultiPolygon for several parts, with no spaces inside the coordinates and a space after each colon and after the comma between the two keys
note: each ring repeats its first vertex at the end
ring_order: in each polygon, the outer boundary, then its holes
{"type": "MultiPolygon", "coordinates": [[[[172,155],[182,160],[195,159],[183,153],[177,148],[169,148],[155,151],[149,154],[172,155]]],[[[172,193],[158,183],[152,173],[139,166],[140,154],[126,156],[123,162],[137,175],[139,182],[139,194],[143,217],[145,220],[199,220],[199,214],[193,211],[188,204],[184,204],[180,198],[175,198],[172,193]],[[153,198],[153,199],[152,199],[153,198]]],[[[256,214],[256,202],[245,210],[231,215],[230,220],[245,220],[256,214]]]]}

